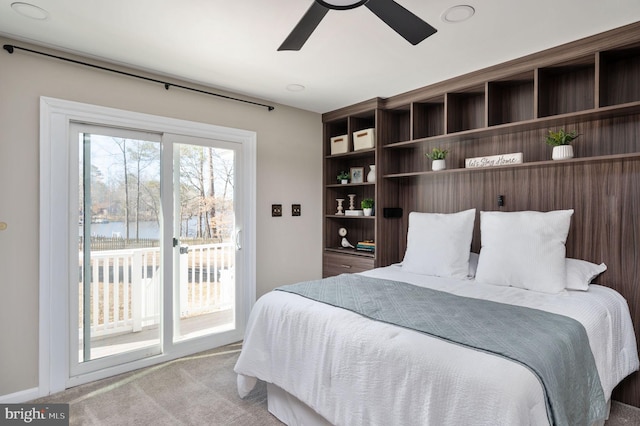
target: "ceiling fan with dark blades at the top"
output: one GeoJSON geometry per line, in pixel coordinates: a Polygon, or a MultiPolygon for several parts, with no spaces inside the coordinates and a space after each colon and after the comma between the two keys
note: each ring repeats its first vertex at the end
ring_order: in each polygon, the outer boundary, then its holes
{"type": "Polygon", "coordinates": [[[413,45],[437,31],[393,0],[314,0],[278,50],[300,50],[329,9],[347,10],[362,5],[413,45]]]}

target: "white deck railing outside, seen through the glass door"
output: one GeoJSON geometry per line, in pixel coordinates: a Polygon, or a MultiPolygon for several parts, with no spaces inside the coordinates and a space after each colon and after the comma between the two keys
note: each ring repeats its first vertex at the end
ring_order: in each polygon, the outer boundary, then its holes
{"type": "MultiPolygon", "coordinates": [[[[180,255],[181,318],[232,307],[234,256],[232,243],[189,246],[180,255]]],[[[82,269],[82,258],[80,265],[82,269]]],[[[91,335],[136,332],[159,324],[160,270],[157,247],[92,251],[91,335]]]]}

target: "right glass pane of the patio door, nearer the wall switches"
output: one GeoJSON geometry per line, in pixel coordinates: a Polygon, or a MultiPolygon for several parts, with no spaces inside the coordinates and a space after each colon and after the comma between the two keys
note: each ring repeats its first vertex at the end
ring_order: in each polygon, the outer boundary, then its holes
{"type": "Polygon", "coordinates": [[[175,340],[235,328],[233,150],[177,144],[175,340]]]}

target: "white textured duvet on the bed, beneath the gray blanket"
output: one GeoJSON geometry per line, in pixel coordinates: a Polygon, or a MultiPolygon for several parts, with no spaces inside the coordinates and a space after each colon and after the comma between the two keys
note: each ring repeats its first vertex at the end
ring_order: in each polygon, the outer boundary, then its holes
{"type": "MultiPolygon", "coordinates": [[[[614,290],[551,295],[403,272],[363,275],[572,317],[589,336],[605,398],[638,369],[626,301],[614,290]]],[[[235,367],[296,396],[335,425],[544,425],[540,382],[526,367],[412,330],[274,291],[255,304],[235,367]]]]}

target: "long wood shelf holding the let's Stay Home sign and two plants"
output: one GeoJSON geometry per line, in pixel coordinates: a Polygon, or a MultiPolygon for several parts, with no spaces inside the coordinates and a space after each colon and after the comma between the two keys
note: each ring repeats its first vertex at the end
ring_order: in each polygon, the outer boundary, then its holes
{"type": "Polygon", "coordinates": [[[569,160],[531,161],[528,163],[510,164],[507,166],[446,169],[446,170],[440,170],[437,172],[434,172],[431,170],[425,170],[421,172],[394,173],[394,174],[384,175],[383,178],[399,179],[399,178],[410,178],[410,177],[416,177],[416,176],[429,176],[429,175],[440,175],[440,174],[450,174],[450,173],[478,173],[478,172],[487,172],[492,170],[527,169],[527,168],[534,168],[534,167],[535,168],[555,167],[555,166],[565,166],[567,164],[601,163],[601,162],[609,162],[609,161],[616,161],[616,160],[635,160],[639,158],[640,158],[640,152],[634,152],[631,154],[614,154],[614,155],[601,155],[597,157],[571,158],[569,160]]]}

